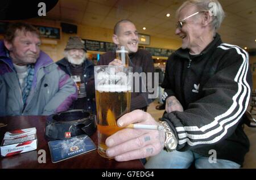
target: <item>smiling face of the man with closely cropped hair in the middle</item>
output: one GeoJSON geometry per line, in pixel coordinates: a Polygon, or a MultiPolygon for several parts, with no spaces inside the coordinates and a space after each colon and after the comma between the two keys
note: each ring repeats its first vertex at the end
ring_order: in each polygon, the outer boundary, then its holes
{"type": "Polygon", "coordinates": [[[122,22],[119,24],[117,35],[113,35],[113,41],[118,46],[125,46],[129,53],[138,51],[138,31],[135,25],[130,22],[122,22]]]}

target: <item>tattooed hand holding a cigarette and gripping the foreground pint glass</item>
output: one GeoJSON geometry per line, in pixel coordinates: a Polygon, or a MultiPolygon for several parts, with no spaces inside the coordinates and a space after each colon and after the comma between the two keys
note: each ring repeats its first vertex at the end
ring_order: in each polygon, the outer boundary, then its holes
{"type": "MultiPolygon", "coordinates": [[[[142,110],[134,110],[118,119],[119,127],[131,123],[143,125],[158,125],[152,116],[142,110]]],[[[114,157],[116,161],[129,161],[158,154],[164,147],[165,134],[163,130],[142,130],[124,128],[108,139],[106,155],[114,157]]]]}

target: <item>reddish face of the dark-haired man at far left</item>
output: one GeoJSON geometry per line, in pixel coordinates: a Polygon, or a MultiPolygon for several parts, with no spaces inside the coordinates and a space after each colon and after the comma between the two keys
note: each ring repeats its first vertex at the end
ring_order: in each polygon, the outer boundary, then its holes
{"type": "Polygon", "coordinates": [[[41,41],[32,32],[16,30],[12,42],[5,41],[6,48],[10,51],[10,57],[16,65],[28,65],[35,63],[39,57],[41,41]]]}

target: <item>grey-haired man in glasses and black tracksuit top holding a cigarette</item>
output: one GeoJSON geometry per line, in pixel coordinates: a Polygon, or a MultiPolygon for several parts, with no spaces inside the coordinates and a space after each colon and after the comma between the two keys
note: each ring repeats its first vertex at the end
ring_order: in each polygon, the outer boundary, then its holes
{"type": "Polygon", "coordinates": [[[248,54],[216,32],[224,19],[217,0],[186,1],[177,10],[182,46],[166,65],[162,87],[166,114],[156,122],[135,110],[118,119],[161,125],[164,130],[125,128],[106,139],[117,161],[149,157],[146,168],[240,168],[249,140],[243,132],[252,86],[248,54]],[[162,149],[164,148],[163,151],[162,149]]]}

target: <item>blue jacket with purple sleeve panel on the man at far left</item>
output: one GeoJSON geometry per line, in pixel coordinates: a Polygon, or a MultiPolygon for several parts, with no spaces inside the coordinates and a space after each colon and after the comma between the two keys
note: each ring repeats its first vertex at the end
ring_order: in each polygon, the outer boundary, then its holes
{"type": "Polygon", "coordinates": [[[35,63],[35,76],[26,106],[13,62],[0,41],[0,116],[49,115],[64,110],[77,99],[73,80],[44,52],[35,63]]]}

